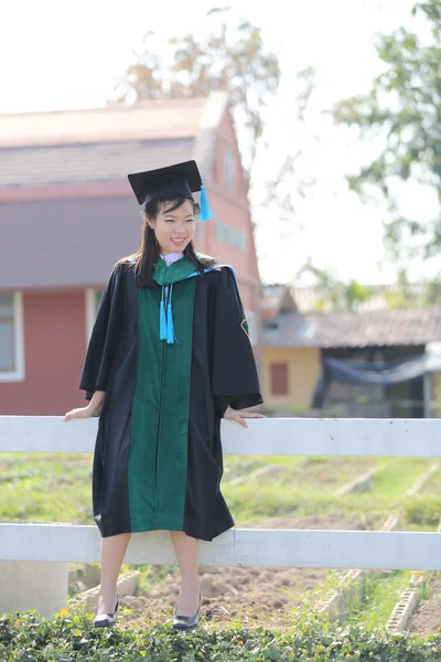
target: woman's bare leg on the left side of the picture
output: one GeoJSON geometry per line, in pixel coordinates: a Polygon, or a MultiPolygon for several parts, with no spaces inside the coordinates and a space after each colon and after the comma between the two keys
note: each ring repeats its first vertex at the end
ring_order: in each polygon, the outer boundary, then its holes
{"type": "Polygon", "coordinates": [[[117,601],[117,580],[130,533],[101,538],[101,586],[97,613],[112,613],[117,601]]]}

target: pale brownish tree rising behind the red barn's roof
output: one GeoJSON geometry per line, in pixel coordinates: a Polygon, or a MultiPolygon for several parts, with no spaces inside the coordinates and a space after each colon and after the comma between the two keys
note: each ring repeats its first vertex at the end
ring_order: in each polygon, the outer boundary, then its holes
{"type": "MultiPolygon", "coordinates": [[[[137,55],[118,84],[119,102],[207,96],[228,90],[235,117],[247,135],[250,171],[265,126],[265,109],[280,81],[278,57],[265,49],[260,28],[240,19],[232,26],[229,9],[212,9],[216,21],[202,40],[194,34],[170,39],[166,55],[152,46],[153,33],[144,38],[146,51],[137,55]]],[[[241,131],[244,138],[244,131],[241,131]]]]}

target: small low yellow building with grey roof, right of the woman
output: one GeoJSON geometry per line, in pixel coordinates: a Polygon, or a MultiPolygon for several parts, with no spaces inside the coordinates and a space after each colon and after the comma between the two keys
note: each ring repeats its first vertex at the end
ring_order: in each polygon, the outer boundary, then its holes
{"type": "MultiPolygon", "coordinates": [[[[286,300],[281,295],[280,300],[286,300]]],[[[267,409],[283,415],[440,414],[441,310],[279,310],[263,331],[267,409]]]]}

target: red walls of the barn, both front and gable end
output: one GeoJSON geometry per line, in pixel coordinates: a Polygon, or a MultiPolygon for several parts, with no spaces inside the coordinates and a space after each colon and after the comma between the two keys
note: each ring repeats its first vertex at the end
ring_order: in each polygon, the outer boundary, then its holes
{"type": "MultiPolygon", "coordinates": [[[[208,173],[207,173],[208,174],[208,173]]],[[[260,284],[248,206],[248,184],[244,178],[229,113],[217,130],[213,168],[207,189],[217,218],[247,235],[247,250],[220,244],[214,223],[206,223],[196,246],[203,253],[230,264],[237,275],[246,309],[260,309],[260,284]],[[225,152],[233,150],[235,178],[232,188],[225,177],[225,152]]],[[[0,415],[63,416],[83,406],[78,389],[86,351],[84,291],[28,292],[23,296],[25,381],[0,382],[0,415]]],[[[261,337],[255,348],[260,363],[261,337]]]]}

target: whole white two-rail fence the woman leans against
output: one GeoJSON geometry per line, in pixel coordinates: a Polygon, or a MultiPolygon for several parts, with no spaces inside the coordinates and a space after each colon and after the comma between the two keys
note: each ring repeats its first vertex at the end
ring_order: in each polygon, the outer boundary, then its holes
{"type": "MultiPolygon", "coordinates": [[[[222,421],[225,455],[441,457],[439,419],[248,420],[249,428],[222,421]]],[[[0,452],[92,452],[97,419],[0,416],[0,452]]],[[[256,485],[258,489],[258,485],[256,485]]],[[[97,562],[95,525],[0,523],[3,562],[97,562]]],[[[201,542],[202,565],[441,569],[439,533],[383,531],[230,530],[201,542]]],[[[175,563],[165,532],[133,534],[126,563],[175,563]]],[[[1,564],[0,564],[1,565],[1,564]]],[[[1,568],[0,568],[1,578],[1,568]]],[[[0,601],[1,609],[1,601],[0,601]]]]}

